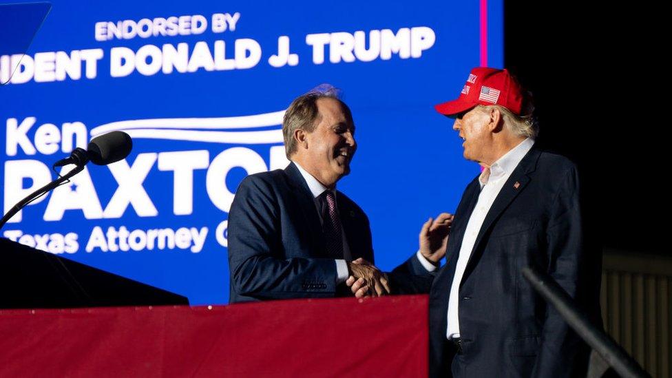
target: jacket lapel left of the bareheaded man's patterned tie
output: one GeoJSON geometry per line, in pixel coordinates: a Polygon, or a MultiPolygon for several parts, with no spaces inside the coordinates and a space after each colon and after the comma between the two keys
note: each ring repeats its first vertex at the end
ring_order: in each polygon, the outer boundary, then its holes
{"type": "Polygon", "coordinates": [[[294,189],[295,197],[297,202],[299,202],[299,207],[306,220],[305,224],[309,229],[311,244],[315,246],[315,248],[311,250],[324,251],[324,235],[322,235],[322,227],[319,222],[317,209],[315,208],[313,193],[311,193],[311,189],[308,188],[306,180],[301,175],[301,172],[294,162],[291,162],[284,171],[287,174],[289,184],[294,189]]]}

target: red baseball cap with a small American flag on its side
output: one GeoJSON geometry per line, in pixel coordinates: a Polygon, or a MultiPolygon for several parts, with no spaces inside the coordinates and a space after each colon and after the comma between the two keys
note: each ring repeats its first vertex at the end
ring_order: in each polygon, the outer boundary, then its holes
{"type": "Polygon", "coordinates": [[[521,85],[506,69],[476,67],[469,74],[460,96],[434,105],[434,109],[445,116],[454,116],[476,105],[501,105],[520,116],[523,107],[521,85]]]}

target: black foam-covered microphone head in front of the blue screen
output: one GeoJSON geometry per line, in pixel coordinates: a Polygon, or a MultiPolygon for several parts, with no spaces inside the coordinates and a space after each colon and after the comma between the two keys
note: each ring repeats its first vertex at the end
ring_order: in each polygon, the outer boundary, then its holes
{"type": "Polygon", "coordinates": [[[93,138],[86,150],[77,147],[72,151],[70,157],[54,163],[54,167],[63,167],[63,165],[68,164],[83,167],[87,162],[92,162],[95,165],[108,165],[128,156],[132,148],[133,140],[131,136],[125,132],[109,132],[93,138]]]}

